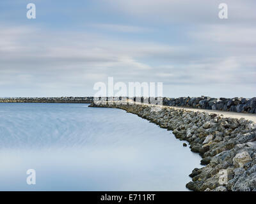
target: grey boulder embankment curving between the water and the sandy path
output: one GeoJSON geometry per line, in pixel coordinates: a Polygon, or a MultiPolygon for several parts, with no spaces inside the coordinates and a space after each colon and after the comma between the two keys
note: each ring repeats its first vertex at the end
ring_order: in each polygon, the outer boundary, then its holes
{"type": "MultiPolygon", "coordinates": [[[[256,191],[256,124],[225,118],[216,113],[154,105],[102,105],[120,108],[186,140],[191,151],[202,156],[203,168],[195,168],[186,184],[193,191],[256,191]],[[160,108],[160,109],[159,109],[160,108]]],[[[172,158],[170,158],[172,159],[172,158]]],[[[182,161],[186,162],[186,161],[182,161]]]]}

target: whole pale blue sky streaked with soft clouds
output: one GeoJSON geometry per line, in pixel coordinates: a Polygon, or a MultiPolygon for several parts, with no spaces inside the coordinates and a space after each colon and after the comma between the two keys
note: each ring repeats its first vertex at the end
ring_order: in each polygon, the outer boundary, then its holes
{"type": "Polygon", "coordinates": [[[172,98],[252,98],[255,25],[255,0],[1,0],[0,97],[93,96],[113,77],[163,82],[172,98]]]}

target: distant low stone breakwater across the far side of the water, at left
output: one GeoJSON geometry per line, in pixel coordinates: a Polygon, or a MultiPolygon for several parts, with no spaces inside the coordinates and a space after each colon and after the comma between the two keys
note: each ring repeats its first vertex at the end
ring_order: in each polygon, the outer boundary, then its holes
{"type": "Polygon", "coordinates": [[[0,98],[0,103],[92,103],[93,97],[0,98]]]}

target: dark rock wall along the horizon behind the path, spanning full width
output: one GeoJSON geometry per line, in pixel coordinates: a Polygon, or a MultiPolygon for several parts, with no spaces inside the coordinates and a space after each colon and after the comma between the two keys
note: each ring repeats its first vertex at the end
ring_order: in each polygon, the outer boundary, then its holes
{"type": "MultiPolygon", "coordinates": [[[[150,99],[143,97],[133,97],[133,101],[150,103],[150,99]]],[[[102,98],[99,98],[102,100],[102,98]]],[[[108,97],[104,100],[108,101],[108,97]]],[[[112,99],[112,98],[111,98],[112,99]]],[[[119,97],[121,100],[122,97],[119,97]]],[[[156,98],[155,98],[156,99],[156,98]]],[[[0,98],[0,103],[92,103],[91,97],[61,97],[61,98],[0,98]]],[[[113,100],[113,99],[112,99],[113,100]]],[[[157,99],[156,99],[157,100],[157,99]]],[[[228,112],[256,113],[256,97],[254,98],[211,98],[201,97],[180,97],[180,98],[161,98],[164,106],[180,106],[188,108],[198,108],[206,110],[223,110],[228,112]]]]}

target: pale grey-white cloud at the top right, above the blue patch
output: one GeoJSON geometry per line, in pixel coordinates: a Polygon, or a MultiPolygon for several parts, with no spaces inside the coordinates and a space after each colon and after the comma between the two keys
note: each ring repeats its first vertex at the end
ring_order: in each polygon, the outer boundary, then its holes
{"type": "MultiPolygon", "coordinates": [[[[193,22],[194,24],[211,24],[220,22],[218,6],[223,3],[218,0],[105,0],[108,6],[117,13],[125,13],[131,18],[150,20],[151,22],[193,22]]],[[[254,0],[226,0],[228,5],[229,20],[242,21],[250,20],[255,22],[255,1],[254,0]]]]}

